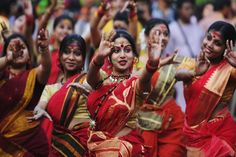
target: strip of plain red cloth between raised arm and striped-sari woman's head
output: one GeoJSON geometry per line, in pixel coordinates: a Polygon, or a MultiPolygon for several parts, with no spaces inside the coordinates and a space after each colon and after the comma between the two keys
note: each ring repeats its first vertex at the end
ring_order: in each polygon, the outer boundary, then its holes
{"type": "Polygon", "coordinates": [[[61,72],[61,69],[59,68],[59,50],[54,50],[51,54],[52,57],[52,67],[51,67],[51,73],[48,79],[48,84],[54,84],[56,83],[59,74],[61,72]]]}

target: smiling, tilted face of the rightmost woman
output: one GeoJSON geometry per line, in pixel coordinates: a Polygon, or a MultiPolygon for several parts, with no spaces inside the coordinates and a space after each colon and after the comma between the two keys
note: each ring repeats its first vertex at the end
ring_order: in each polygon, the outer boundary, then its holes
{"type": "Polygon", "coordinates": [[[218,31],[209,31],[202,44],[202,51],[209,60],[219,59],[223,56],[225,43],[221,33],[218,31]]]}

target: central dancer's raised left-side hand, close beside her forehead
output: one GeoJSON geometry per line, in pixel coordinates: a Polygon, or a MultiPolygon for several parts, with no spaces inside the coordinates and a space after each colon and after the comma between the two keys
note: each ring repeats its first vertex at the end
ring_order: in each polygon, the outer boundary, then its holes
{"type": "Polygon", "coordinates": [[[102,34],[102,39],[99,45],[99,52],[98,52],[98,56],[101,58],[105,58],[107,56],[109,56],[112,53],[112,48],[114,46],[114,42],[112,41],[114,36],[115,36],[115,31],[112,30],[109,33],[103,33],[102,34]]]}

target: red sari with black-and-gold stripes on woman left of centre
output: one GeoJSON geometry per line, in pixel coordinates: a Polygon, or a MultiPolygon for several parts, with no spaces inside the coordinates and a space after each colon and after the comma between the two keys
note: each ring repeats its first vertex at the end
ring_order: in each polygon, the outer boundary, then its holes
{"type": "Polygon", "coordinates": [[[49,139],[53,147],[50,156],[79,157],[83,156],[86,151],[89,124],[77,124],[72,130],[68,129],[79,107],[80,94],[75,88],[67,87],[67,85],[71,82],[81,83],[84,80],[84,74],[73,76],[49,100],[47,111],[54,123],[52,139],[49,139]]]}

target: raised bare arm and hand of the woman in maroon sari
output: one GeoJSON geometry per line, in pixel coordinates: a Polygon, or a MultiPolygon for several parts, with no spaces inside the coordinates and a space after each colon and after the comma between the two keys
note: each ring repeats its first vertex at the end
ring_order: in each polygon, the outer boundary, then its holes
{"type": "Polygon", "coordinates": [[[39,30],[37,37],[38,52],[41,54],[40,65],[37,67],[37,79],[46,84],[51,70],[51,55],[49,53],[49,35],[45,29],[39,30]]]}

